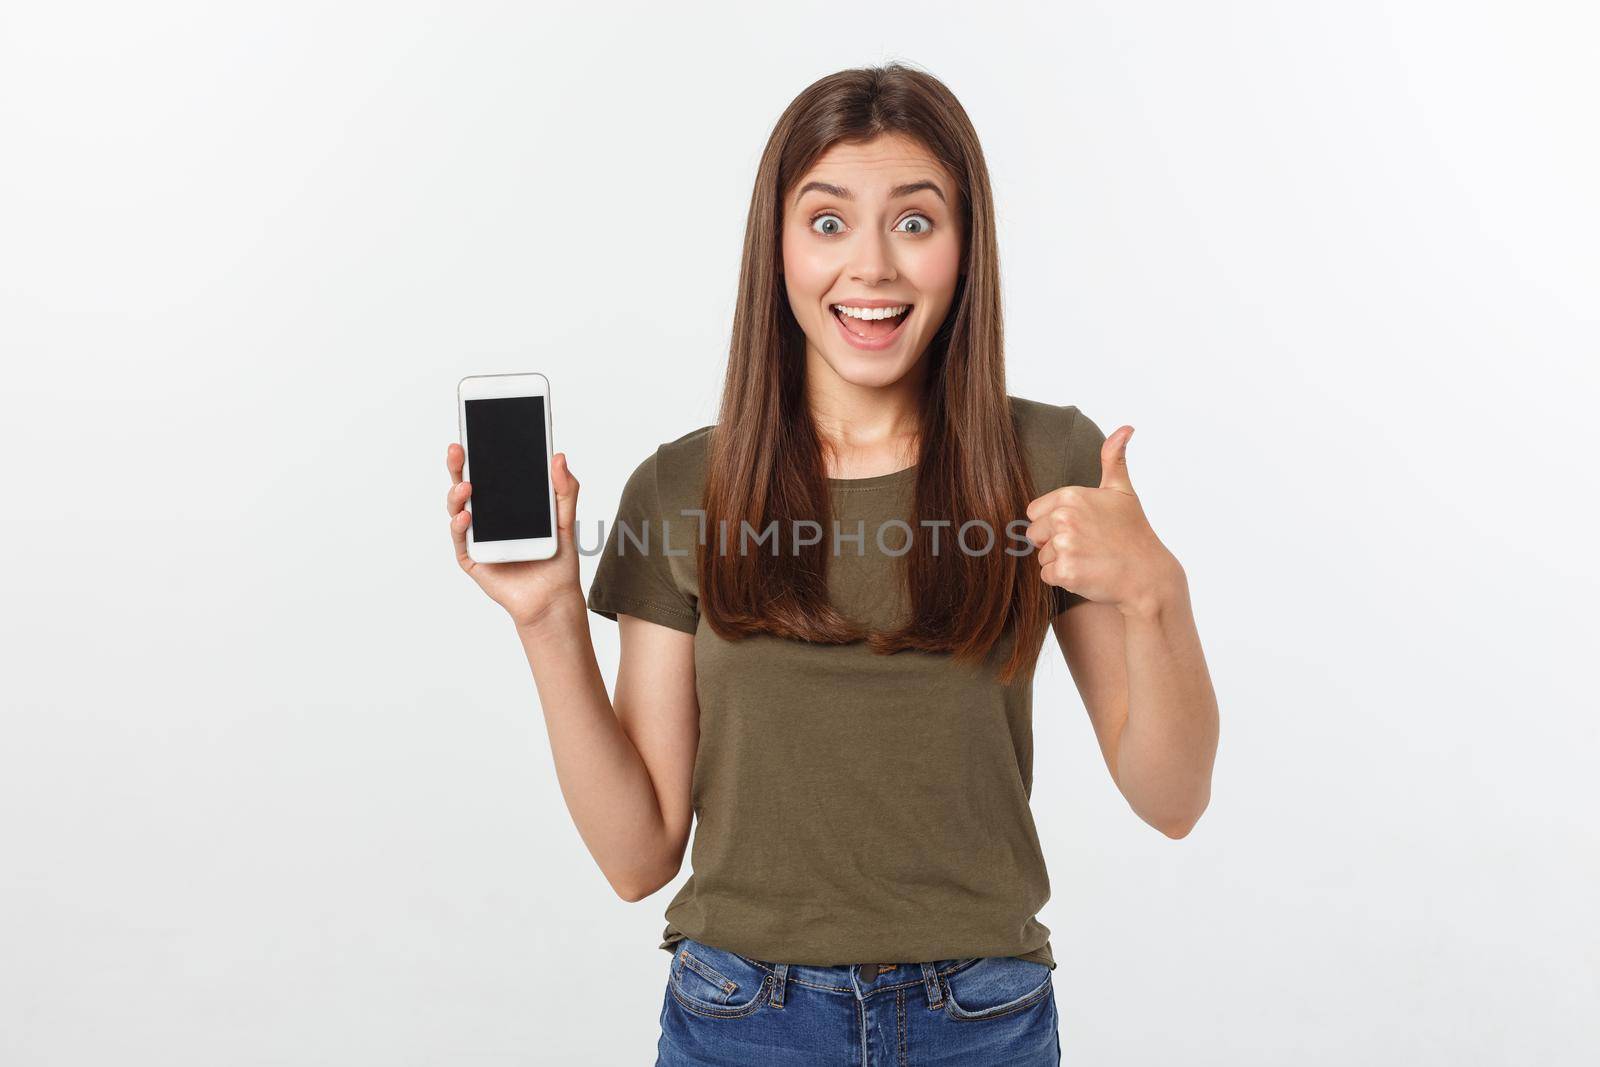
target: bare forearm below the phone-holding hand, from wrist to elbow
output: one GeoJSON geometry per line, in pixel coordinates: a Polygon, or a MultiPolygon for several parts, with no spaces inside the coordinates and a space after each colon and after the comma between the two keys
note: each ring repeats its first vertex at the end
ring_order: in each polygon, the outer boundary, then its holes
{"type": "Polygon", "coordinates": [[[638,749],[618,721],[589,638],[581,595],[554,606],[536,627],[517,627],[555,777],[579,837],[624,899],[653,893],[670,878],[661,803],[638,749]]]}

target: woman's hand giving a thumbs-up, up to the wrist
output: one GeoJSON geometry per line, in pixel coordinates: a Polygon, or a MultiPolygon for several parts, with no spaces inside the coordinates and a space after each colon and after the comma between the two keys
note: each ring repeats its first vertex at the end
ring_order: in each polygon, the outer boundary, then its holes
{"type": "Polygon", "coordinates": [[[1099,486],[1066,485],[1027,506],[1027,539],[1038,549],[1040,577],[1125,616],[1152,614],[1182,566],[1155,536],[1128,475],[1131,426],[1101,445],[1099,486]]]}

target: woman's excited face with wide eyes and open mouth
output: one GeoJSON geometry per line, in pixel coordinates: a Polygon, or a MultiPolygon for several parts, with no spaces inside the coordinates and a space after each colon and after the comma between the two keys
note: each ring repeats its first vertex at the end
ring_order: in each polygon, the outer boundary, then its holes
{"type": "Polygon", "coordinates": [[[904,378],[950,310],[962,227],[955,181],[918,141],[829,147],[784,203],[784,286],[806,373],[826,366],[854,386],[904,378]]]}

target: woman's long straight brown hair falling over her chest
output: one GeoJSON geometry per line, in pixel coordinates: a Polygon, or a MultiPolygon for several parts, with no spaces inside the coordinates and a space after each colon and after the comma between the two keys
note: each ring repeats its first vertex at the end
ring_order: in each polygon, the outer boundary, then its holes
{"type": "MultiPolygon", "coordinates": [[[[994,197],[978,133],[960,101],[930,74],[890,64],[830,74],[789,104],[762,152],[746,221],[739,301],[710,435],[706,530],[741,523],[779,539],[795,520],[830,528],[822,445],[805,395],[805,334],[779,274],[782,203],[829,146],[904,134],[920,141],[957,179],[965,219],[963,270],[950,312],[928,344],[915,486],[918,520],[984,520],[989,552],[970,555],[915,536],[906,560],[910,616],[898,630],[867,633],[829,601],[830,537],[776,555],[726,550],[701,539],[701,613],[725,640],[773,633],[819,643],[867,640],[874,651],[922,649],[976,662],[1008,633],[1002,670],[1029,665],[1050,625],[1050,589],[1030,553],[1003,549],[1008,523],[1024,517],[1032,480],[1011,421],[1000,322],[1000,259],[994,197]],[[725,523],[725,526],[723,526],[725,523]],[[1013,629],[1014,627],[1014,629],[1013,629]]],[[[926,531],[923,531],[925,534],[926,531]]]]}

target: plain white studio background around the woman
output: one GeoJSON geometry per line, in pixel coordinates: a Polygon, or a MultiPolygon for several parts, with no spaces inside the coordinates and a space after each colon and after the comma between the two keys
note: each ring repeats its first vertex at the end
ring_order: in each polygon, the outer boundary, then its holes
{"type": "Polygon", "coordinates": [[[1011,392],[1138,427],[1221,697],[1171,841],[1046,648],[1066,1059],[1594,1062],[1597,34],[5,3],[0,1062],[653,1061],[688,872],[626,904],[571,825],[454,386],[544,371],[608,518],[715,418],[773,122],[896,58],[982,138],[1011,392]]]}

